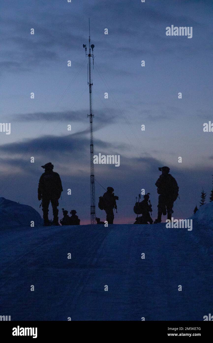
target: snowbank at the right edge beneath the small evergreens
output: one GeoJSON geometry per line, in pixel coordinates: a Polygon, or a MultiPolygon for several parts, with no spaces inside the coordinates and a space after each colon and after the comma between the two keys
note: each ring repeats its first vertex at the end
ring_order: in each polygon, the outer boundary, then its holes
{"type": "Polygon", "coordinates": [[[200,206],[190,219],[204,226],[213,226],[213,201],[200,206]]]}

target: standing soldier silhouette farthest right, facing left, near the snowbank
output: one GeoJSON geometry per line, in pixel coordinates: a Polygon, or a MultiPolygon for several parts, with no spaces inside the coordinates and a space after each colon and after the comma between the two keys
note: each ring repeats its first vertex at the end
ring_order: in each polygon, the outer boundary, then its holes
{"type": "Polygon", "coordinates": [[[158,187],[157,191],[160,195],[158,197],[158,218],[155,220],[154,224],[161,222],[162,214],[167,214],[167,219],[172,220],[172,208],[174,201],[178,197],[179,190],[175,178],[169,174],[170,168],[161,167],[158,169],[162,171],[162,174],[155,184],[158,187]]]}

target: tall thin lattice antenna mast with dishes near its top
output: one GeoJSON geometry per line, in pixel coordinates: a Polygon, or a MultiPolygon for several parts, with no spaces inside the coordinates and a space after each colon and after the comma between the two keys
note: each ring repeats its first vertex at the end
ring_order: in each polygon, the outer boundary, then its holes
{"type": "MultiPolygon", "coordinates": [[[[85,48],[86,52],[86,45],[83,44],[83,48],[85,48]]],[[[88,114],[87,117],[90,117],[90,189],[91,189],[91,206],[90,206],[90,215],[91,215],[91,224],[95,224],[95,177],[94,177],[94,164],[93,164],[93,111],[92,111],[92,79],[91,79],[91,57],[94,66],[94,56],[93,56],[93,49],[94,44],[90,45],[90,19],[89,19],[89,54],[86,53],[86,56],[89,58],[89,81],[87,82],[89,85],[90,90],[90,115],[88,114]],[[91,53],[92,49],[92,53],[91,53]]]]}

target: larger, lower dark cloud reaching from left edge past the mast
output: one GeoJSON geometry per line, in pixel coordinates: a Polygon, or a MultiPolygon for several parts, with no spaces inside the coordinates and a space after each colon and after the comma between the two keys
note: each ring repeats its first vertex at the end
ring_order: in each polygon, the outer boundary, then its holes
{"type": "MultiPolygon", "coordinates": [[[[128,145],[125,144],[115,145],[114,143],[96,139],[94,154],[99,152],[122,154],[127,149],[128,145]]],[[[58,163],[63,165],[69,165],[70,161],[72,161],[72,165],[76,166],[76,173],[78,173],[79,167],[85,169],[85,161],[87,161],[86,166],[89,167],[89,130],[62,137],[46,135],[36,139],[25,139],[21,142],[8,143],[1,145],[0,151],[2,166],[7,164],[14,169],[18,166],[22,167],[23,171],[31,170],[30,157],[33,156],[36,163],[39,161],[39,164],[44,164],[46,160],[52,160],[58,161],[58,163]]],[[[8,169],[11,170],[10,168],[8,169]]]]}

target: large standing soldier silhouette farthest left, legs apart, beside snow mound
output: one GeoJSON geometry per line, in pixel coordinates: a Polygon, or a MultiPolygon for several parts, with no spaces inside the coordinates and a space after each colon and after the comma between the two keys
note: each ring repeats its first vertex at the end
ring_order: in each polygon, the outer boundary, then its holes
{"type": "Polygon", "coordinates": [[[41,175],[38,185],[38,200],[42,199],[42,211],[44,218],[44,226],[49,226],[48,219],[49,204],[51,202],[53,208],[53,225],[60,225],[58,223],[58,199],[61,197],[63,191],[62,182],[58,173],[53,171],[53,164],[46,163],[44,173],[41,175]]]}

